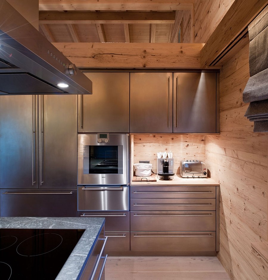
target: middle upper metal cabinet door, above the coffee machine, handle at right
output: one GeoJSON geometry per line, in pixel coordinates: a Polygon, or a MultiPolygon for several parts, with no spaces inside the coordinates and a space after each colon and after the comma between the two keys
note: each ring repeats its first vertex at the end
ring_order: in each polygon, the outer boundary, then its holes
{"type": "Polygon", "coordinates": [[[172,73],[130,73],[130,132],[172,132],[172,73]]]}

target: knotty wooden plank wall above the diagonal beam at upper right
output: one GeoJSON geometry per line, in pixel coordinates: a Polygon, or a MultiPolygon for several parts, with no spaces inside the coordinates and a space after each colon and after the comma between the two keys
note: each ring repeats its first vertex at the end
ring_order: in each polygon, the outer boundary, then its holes
{"type": "Polygon", "coordinates": [[[206,43],[234,0],[196,0],[194,43],[206,43]]]}

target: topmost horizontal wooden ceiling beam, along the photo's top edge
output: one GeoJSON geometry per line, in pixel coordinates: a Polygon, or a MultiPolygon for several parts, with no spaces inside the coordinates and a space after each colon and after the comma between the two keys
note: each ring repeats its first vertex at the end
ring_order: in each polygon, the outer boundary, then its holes
{"type": "Polygon", "coordinates": [[[190,10],[194,2],[195,0],[39,0],[39,10],[190,10]]]}

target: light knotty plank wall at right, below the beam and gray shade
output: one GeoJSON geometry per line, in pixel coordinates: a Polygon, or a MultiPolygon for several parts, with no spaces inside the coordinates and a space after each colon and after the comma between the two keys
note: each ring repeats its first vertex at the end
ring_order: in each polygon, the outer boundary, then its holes
{"type": "Polygon", "coordinates": [[[268,279],[251,251],[267,239],[267,133],[253,133],[242,92],[249,78],[248,44],[220,72],[220,135],[205,136],[205,162],[220,183],[219,260],[231,279],[268,279]]]}

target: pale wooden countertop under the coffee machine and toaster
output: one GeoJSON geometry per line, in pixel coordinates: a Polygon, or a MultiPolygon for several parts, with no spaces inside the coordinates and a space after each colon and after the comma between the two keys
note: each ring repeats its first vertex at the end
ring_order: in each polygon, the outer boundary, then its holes
{"type": "MultiPolygon", "coordinates": [[[[146,177],[142,177],[146,178],[146,177]]],[[[145,179],[143,179],[145,180],[145,179]]],[[[156,179],[156,182],[131,182],[130,186],[219,186],[212,178],[183,178],[180,175],[175,175],[174,179],[163,180],[156,179]]]]}

